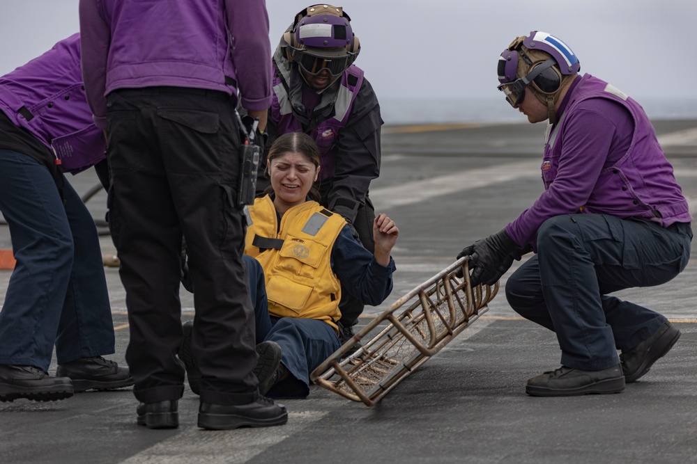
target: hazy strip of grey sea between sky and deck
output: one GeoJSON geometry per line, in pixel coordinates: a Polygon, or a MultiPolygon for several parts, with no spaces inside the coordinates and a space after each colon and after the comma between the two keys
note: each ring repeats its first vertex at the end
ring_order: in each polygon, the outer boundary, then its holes
{"type": "MultiPolygon", "coordinates": [[[[503,97],[379,98],[386,125],[527,122],[503,97]]],[[[652,120],[697,119],[697,99],[637,98],[652,120]]]]}

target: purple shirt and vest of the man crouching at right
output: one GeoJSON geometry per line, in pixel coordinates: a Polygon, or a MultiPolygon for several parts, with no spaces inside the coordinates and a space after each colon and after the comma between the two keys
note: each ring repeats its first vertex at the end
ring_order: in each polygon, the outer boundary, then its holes
{"type": "Polygon", "coordinates": [[[506,226],[516,243],[535,248],[539,226],[561,214],[634,216],[663,227],[692,221],[673,166],[638,103],[585,74],[558,113],[542,160],[545,190],[506,226]]]}

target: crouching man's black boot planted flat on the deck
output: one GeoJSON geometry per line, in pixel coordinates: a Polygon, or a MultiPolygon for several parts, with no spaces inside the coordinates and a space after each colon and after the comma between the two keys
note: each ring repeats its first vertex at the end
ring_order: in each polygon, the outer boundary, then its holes
{"type": "Polygon", "coordinates": [[[625,390],[622,367],[581,371],[562,366],[528,379],[525,392],[533,397],[572,397],[581,394],[619,393],[625,390]]]}

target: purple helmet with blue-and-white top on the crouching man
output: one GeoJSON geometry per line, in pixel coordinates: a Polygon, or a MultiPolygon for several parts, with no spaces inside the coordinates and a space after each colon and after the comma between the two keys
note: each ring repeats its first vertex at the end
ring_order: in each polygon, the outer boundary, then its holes
{"type": "Polygon", "coordinates": [[[554,35],[532,31],[516,38],[499,56],[498,89],[515,108],[523,101],[526,87],[532,86],[537,98],[548,106],[550,122],[554,122],[553,104],[562,81],[579,70],[579,58],[568,45],[554,35]],[[525,65],[521,66],[521,60],[525,65]],[[523,71],[519,72],[521,68],[523,71]]]}

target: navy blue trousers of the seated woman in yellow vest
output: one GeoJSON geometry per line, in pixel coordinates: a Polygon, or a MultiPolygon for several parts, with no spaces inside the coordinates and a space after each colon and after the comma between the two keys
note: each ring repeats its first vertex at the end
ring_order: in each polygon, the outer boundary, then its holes
{"type": "Polygon", "coordinates": [[[319,319],[270,317],[261,264],[247,255],[244,259],[256,315],[256,343],[271,340],[279,344],[281,363],[291,374],[285,381],[274,385],[267,396],[306,398],[309,374],[339,349],[339,337],[332,326],[319,319]]]}

